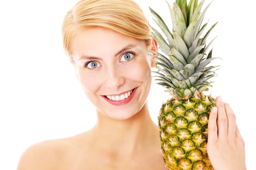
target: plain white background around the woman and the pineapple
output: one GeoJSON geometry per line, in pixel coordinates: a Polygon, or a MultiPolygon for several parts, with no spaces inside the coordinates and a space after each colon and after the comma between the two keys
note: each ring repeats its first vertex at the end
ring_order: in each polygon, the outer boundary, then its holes
{"type": "MultiPolygon", "coordinates": [[[[0,170],[16,169],[30,145],[69,137],[91,128],[96,115],[63,53],[61,24],[77,0],[0,2],[0,170]]],[[[154,25],[148,6],[169,18],[165,0],[137,0],[154,25]]],[[[173,1],[168,1],[172,4],[173,1]]],[[[206,0],[208,4],[210,0],[206,0]]],[[[254,169],[254,0],[215,0],[206,15],[213,30],[213,57],[222,69],[211,89],[231,104],[246,144],[247,169],[254,169]]],[[[210,40],[208,41],[210,42],[210,40]]],[[[168,94],[155,85],[148,101],[157,123],[168,94]]]]}

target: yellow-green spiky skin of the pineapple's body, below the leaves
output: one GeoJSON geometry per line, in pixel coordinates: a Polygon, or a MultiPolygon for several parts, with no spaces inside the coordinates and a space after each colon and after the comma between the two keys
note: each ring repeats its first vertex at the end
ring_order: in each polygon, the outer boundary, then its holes
{"type": "Polygon", "coordinates": [[[208,118],[215,99],[202,93],[171,98],[159,111],[159,138],[169,170],[213,170],[207,155],[208,118]]]}

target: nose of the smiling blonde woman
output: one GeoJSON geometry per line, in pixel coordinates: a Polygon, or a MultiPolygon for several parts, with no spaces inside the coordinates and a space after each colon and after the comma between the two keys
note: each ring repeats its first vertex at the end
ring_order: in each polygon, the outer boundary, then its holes
{"type": "Polygon", "coordinates": [[[111,67],[106,70],[106,86],[112,90],[117,90],[125,82],[124,71],[117,67],[111,67]]]}

